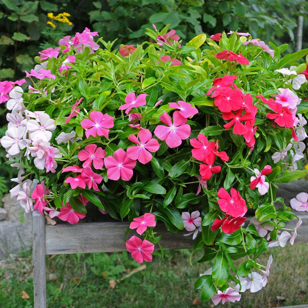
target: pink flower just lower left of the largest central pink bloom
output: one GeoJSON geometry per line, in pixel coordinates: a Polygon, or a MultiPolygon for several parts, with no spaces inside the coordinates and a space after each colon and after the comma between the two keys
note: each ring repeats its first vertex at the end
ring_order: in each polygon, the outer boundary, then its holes
{"type": "Polygon", "coordinates": [[[133,160],[139,160],[141,164],[147,164],[153,157],[150,152],[156,152],[159,149],[159,143],[152,138],[152,134],[148,129],[140,131],[138,138],[140,141],[135,135],[128,136],[128,139],[138,144],[138,146],[129,147],[126,150],[126,155],[133,160]]]}

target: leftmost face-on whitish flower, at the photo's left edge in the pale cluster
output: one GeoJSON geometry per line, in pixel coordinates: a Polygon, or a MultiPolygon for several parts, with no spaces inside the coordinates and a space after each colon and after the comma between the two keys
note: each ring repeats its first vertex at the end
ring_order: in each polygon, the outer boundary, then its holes
{"type": "Polygon", "coordinates": [[[12,127],[8,129],[0,139],[3,148],[6,148],[6,152],[9,155],[16,155],[20,153],[20,150],[26,148],[26,140],[23,139],[25,134],[25,127],[12,127]]]}

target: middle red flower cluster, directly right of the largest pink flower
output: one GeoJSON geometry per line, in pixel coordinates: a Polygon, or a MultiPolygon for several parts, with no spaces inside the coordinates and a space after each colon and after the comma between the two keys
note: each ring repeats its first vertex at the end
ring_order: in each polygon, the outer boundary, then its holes
{"type": "Polygon", "coordinates": [[[201,180],[207,181],[214,173],[221,171],[221,166],[213,166],[216,156],[219,156],[223,161],[228,161],[229,156],[225,151],[218,152],[218,141],[216,143],[209,142],[202,134],[199,134],[197,138],[190,139],[190,144],[194,147],[192,154],[194,158],[205,163],[200,165],[200,175],[201,180]]]}

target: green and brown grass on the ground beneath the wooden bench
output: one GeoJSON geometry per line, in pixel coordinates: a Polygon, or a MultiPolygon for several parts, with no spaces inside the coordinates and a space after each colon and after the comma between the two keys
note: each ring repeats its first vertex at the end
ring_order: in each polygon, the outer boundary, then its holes
{"type": "MultiPolygon", "coordinates": [[[[266,264],[270,253],[274,262],[268,285],[255,294],[245,292],[241,302],[225,307],[276,307],[308,302],[308,244],[269,249],[260,258],[262,264],[266,264]]],[[[156,252],[153,262],[140,270],[126,252],[59,255],[47,259],[48,307],[212,307],[211,302],[201,301],[198,290],[193,290],[199,273],[211,266],[198,264],[200,257],[201,254],[193,257],[197,265],[192,267],[188,250],[165,251],[163,259],[156,252]],[[124,277],[129,274],[130,277],[124,277]]],[[[1,308],[33,307],[31,270],[30,252],[0,261],[1,308]],[[22,298],[22,291],[29,295],[28,299],[22,298]]],[[[23,297],[27,297],[25,293],[23,297]]]]}

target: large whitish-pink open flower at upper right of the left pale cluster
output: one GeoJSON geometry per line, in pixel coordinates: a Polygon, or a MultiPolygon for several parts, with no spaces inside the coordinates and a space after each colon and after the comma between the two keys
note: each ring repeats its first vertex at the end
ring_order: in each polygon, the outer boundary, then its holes
{"type": "Polygon", "coordinates": [[[38,138],[48,142],[52,136],[50,131],[56,129],[55,120],[51,119],[47,113],[44,113],[38,116],[38,121],[39,123],[36,120],[27,122],[30,137],[32,140],[38,138]]]}

